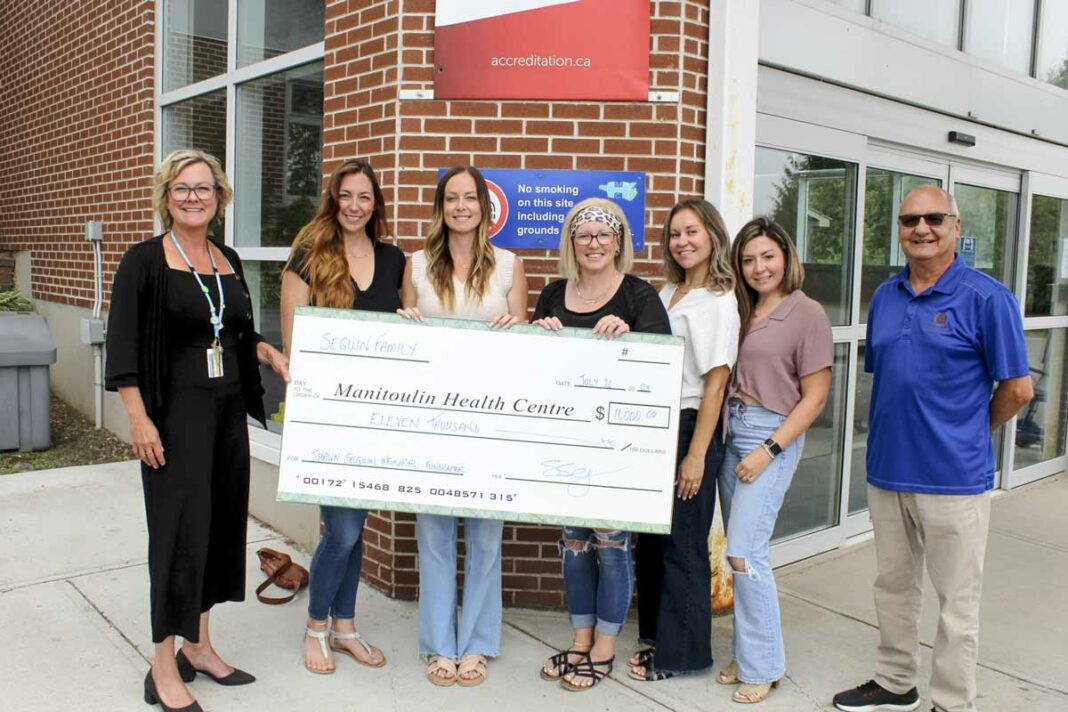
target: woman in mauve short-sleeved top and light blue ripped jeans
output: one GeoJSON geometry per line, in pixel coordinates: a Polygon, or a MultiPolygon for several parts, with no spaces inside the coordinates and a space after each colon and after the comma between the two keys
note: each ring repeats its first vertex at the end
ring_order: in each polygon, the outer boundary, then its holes
{"type": "Polygon", "coordinates": [[[801,291],[804,269],[786,231],[751,220],[731,257],[741,334],[719,482],[734,571],[734,660],[717,681],[741,683],[736,702],[759,702],[786,671],[771,533],[804,432],[827,402],[834,345],[823,307],[801,291]]]}

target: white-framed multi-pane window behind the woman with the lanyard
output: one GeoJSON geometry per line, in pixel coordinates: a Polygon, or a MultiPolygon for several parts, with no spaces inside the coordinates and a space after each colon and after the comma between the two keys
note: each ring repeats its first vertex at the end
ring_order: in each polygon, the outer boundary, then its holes
{"type": "MultiPolygon", "coordinates": [[[[224,238],[237,248],[256,329],[280,346],[287,248],[318,203],[325,5],[316,0],[163,0],[161,156],[201,148],[234,186],[224,238]],[[231,97],[233,100],[227,100],[231,97]],[[272,250],[273,248],[273,250],[272,250]]],[[[268,429],[285,389],[263,374],[268,429]]]]}

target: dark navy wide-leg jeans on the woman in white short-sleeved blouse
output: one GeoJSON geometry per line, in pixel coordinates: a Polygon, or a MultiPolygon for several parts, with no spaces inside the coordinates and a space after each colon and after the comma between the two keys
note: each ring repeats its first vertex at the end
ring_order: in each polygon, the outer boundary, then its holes
{"type": "MultiPolygon", "coordinates": [[[[696,422],[696,410],[680,412],[676,476],[678,464],[690,449],[696,422]]],[[[717,428],[705,455],[705,477],[697,495],[686,501],[675,497],[671,534],[638,535],[638,637],[656,647],[653,665],[657,670],[681,673],[712,664],[708,532],[723,454],[723,439],[717,428]]]]}

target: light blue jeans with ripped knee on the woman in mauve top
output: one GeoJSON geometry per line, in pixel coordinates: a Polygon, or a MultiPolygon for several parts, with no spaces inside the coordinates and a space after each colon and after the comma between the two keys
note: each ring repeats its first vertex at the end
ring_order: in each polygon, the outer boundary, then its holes
{"type": "Polygon", "coordinates": [[[738,661],[738,679],[753,684],[773,682],[786,673],[779,591],[771,573],[769,545],[783,497],[801,459],[804,436],[784,447],[751,482],[739,481],[735,466],[785,420],[760,406],[732,402],[731,434],[720,473],[727,557],[744,559],[747,568],[734,571],[734,656],[738,661]]]}

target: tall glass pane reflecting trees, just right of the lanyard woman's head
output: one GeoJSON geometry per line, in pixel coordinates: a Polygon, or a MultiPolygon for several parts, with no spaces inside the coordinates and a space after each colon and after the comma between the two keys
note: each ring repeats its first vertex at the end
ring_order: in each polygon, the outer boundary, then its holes
{"type": "Polygon", "coordinates": [[[318,205],[321,137],[321,62],[238,88],[238,246],[293,243],[318,205]]]}

